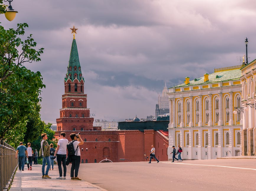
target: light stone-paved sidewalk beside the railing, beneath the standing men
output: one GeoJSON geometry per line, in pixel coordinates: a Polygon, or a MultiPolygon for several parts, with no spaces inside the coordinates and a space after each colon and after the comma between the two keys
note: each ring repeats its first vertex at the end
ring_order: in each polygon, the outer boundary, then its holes
{"type": "Polygon", "coordinates": [[[32,165],[32,171],[19,171],[17,168],[10,191],[107,191],[96,185],[92,185],[84,180],[71,180],[70,173],[67,173],[65,179],[56,179],[59,177],[58,166],[54,165],[54,170],[49,170],[48,175],[51,179],[42,178],[42,165],[32,165]]]}

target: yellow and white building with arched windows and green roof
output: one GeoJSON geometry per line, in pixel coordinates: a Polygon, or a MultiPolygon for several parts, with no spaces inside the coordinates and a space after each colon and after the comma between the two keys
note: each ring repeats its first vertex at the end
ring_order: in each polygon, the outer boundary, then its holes
{"type": "Polygon", "coordinates": [[[169,88],[168,159],[178,144],[183,159],[241,155],[243,112],[233,113],[234,107],[242,107],[241,67],[218,68],[194,80],[186,77],[169,88]]]}

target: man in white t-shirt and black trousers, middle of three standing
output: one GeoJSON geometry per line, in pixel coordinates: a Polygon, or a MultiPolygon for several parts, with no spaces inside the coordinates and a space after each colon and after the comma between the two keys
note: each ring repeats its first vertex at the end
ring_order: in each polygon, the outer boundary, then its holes
{"type": "Polygon", "coordinates": [[[62,166],[63,166],[63,179],[66,179],[66,172],[67,172],[66,156],[67,156],[67,144],[69,143],[69,140],[67,140],[65,137],[66,137],[66,133],[61,132],[60,138],[58,140],[58,146],[54,153],[54,156],[57,155],[58,169],[59,169],[59,173],[60,173],[60,176],[57,179],[62,179],[61,162],[62,162],[62,166]]]}

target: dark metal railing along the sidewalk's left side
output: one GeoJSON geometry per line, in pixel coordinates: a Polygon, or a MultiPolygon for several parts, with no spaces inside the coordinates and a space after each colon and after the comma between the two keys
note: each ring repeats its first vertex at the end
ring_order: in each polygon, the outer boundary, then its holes
{"type": "Polygon", "coordinates": [[[16,150],[0,140],[0,191],[10,188],[19,160],[15,158],[16,150]]]}

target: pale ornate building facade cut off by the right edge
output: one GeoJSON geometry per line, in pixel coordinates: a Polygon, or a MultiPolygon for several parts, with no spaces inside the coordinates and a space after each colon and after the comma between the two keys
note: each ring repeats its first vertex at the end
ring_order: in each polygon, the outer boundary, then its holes
{"type": "Polygon", "coordinates": [[[242,155],[256,155],[256,60],[241,68],[242,76],[242,105],[243,129],[242,129],[242,155]]]}

